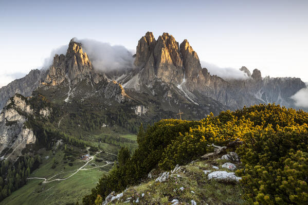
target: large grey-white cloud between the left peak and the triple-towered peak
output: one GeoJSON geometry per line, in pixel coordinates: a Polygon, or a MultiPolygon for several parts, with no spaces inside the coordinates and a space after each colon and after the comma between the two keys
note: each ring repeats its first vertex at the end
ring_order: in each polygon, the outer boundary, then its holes
{"type": "Polygon", "coordinates": [[[82,44],[82,49],[97,70],[111,71],[133,67],[133,53],[124,46],[103,43],[91,39],[82,39],[77,42],[82,44]]]}

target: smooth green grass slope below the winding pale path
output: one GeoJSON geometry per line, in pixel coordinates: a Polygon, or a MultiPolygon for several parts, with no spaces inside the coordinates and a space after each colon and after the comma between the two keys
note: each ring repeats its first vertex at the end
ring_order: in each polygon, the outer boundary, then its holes
{"type": "MultiPolygon", "coordinates": [[[[111,165],[110,165],[111,166],[111,165]]],[[[98,179],[106,174],[99,168],[79,171],[64,181],[39,185],[43,180],[31,179],[24,187],[12,193],[0,204],[65,204],[82,202],[82,197],[94,188],[98,179]]]]}

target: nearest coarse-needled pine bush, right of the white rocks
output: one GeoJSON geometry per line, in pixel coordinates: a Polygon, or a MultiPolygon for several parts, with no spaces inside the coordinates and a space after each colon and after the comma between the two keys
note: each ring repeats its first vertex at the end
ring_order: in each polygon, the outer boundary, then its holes
{"type": "Polygon", "coordinates": [[[256,127],[238,148],[244,198],[254,204],[308,204],[308,127],[256,127]]]}

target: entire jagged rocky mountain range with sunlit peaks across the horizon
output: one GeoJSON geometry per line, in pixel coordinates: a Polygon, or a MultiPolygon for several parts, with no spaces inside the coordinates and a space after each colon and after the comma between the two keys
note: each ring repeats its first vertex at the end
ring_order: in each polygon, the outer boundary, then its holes
{"type": "MultiPolygon", "coordinates": [[[[170,104],[163,109],[176,112],[183,109],[183,105],[178,104],[180,98],[188,104],[196,105],[204,114],[259,103],[294,107],[290,97],[306,87],[299,78],[262,78],[258,69],[251,74],[244,66],[240,70],[249,77],[246,80],[224,80],[211,76],[206,68],[201,67],[198,55],[189,42],[184,40],[179,45],[168,33],[163,33],[155,40],[153,33],[147,32],[138,42],[134,67],[103,73],[99,71],[100,68],[93,67],[90,58],[83,52],[81,43],[72,39],[67,53],[56,54],[46,73],[32,70],[26,77],[0,88],[0,93],[3,94],[0,97],[0,108],[15,92],[30,96],[42,82],[45,90],[65,84],[66,89],[70,90],[62,92],[60,96],[66,96],[67,101],[74,98],[78,91],[76,87],[82,81],[93,89],[94,85],[102,83],[109,84],[108,89],[120,83],[123,88],[120,92],[123,92],[123,96],[129,92],[131,99],[136,95],[157,96],[159,103],[170,104]],[[116,83],[108,83],[112,81],[116,83]],[[162,91],[161,86],[165,92],[158,94],[162,91]],[[177,105],[171,105],[172,102],[177,105]]],[[[106,85],[104,87],[106,89],[106,85]]],[[[111,93],[115,95],[113,92],[103,92],[106,98],[111,98],[111,93]]],[[[87,96],[89,93],[79,92],[78,96],[82,95],[87,96]]],[[[147,104],[146,102],[147,100],[144,104],[147,104]]],[[[186,106],[190,106],[188,104],[186,106]]]]}

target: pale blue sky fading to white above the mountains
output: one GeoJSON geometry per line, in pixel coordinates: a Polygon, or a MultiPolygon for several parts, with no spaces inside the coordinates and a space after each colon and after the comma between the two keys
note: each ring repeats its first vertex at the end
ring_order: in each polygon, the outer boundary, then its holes
{"type": "MultiPolygon", "coordinates": [[[[0,0],[0,86],[52,49],[92,39],[136,50],[147,31],[187,39],[201,61],[308,82],[308,1],[0,0]]],[[[90,58],[90,57],[89,57],[90,58]]]]}

